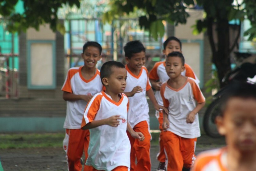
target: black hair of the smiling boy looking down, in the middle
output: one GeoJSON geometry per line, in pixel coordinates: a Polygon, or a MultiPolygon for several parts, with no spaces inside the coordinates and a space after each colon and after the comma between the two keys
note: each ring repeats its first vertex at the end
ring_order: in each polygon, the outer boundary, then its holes
{"type": "Polygon", "coordinates": [[[133,56],[133,54],[140,53],[141,51],[146,52],[146,48],[139,40],[128,42],[124,46],[125,57],[129,59],[133,56]]]}

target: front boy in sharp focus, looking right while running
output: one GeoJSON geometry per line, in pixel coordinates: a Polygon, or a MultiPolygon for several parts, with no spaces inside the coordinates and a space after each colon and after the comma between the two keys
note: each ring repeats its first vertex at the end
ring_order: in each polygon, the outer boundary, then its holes
{"type": "Polygon", "coordinates": [[[101,81],[106,90],[97,93],[85,108],[81,128],[90,130],[86,165],[94,170],[130,170],[130,142],[126,130],[139,141],[142,133],[134,132],[127,122],[128,97],[125,66],[109,61],[101,67],[101,81]]]}

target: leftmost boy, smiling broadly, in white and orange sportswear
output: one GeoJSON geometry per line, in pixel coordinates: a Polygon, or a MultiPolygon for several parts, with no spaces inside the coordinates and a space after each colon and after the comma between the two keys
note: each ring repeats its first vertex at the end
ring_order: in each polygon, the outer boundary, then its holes
{"type": "MultiPolygon", "coordinates": [[[[85,43],[81,54],[84,66],[70,68],[61,89],[63,99],[67,101],[63,148],[67,154],[69,171],[81,171],[80,159],[83,152],[85,161],[88,156],[89,130],[81,130],[80,126],[87,102],[102,90],[100,71],[96,68],[97,62],[101,59],[101,51],[99,43],[85,43]]],[[[84,166],[84,171],[92,169],[91,166],[84,166]]]]}

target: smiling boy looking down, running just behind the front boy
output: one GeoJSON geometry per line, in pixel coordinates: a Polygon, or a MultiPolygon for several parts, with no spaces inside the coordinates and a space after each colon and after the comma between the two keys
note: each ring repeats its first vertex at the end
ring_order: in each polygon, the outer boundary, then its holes
{"type": "MultiPolygon", "coordinates": [[[[148,80],[148,71],[145,66],[145,47],[140,41],[131,41],[124,47],[127,70],[126,95],[129,97],[130,108],[128,111],[128,122],[134,131],[142,132],[144,141],[138,141],[130,136],[131,142],[131,170],[150,171],[150,140],[149,132],[149,107],[146,93],[156,110],[165,109],[155,99],[154,92],[148,80]],[[137,165],[135,165],[137,158],[137,165]]],[[[167,110],[167,109],[165,109],[167,110]]]]}

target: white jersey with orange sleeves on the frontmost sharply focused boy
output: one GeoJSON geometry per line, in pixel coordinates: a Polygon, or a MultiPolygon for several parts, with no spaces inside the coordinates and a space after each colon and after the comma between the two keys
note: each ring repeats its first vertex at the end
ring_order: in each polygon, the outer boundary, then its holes
{"type": "Polygon", "coordinates": [[[128,97],[122,93],[115,102],[104,91],[97,93],[85,108],[81,127],[89,122],[121,115],[120,125],[101,125],[90,130],[90,142],[86,165],[97,170],[113,170],[118,166],[130,168],[130,141],[126,133],[128,97]]]}

